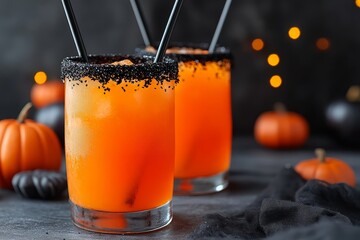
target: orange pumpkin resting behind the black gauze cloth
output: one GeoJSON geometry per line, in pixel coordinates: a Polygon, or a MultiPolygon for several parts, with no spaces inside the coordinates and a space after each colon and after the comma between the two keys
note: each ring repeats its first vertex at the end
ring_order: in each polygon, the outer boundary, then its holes
{"type": "Polygon", "coordinates": [[[347,183],[355,187],[356,177],[352,168],[345,162],[325,157],[324,149],[315,150],[317,158],[298,163],[295,171],[304,179],[318,179],[328,183],[347,183]]]}

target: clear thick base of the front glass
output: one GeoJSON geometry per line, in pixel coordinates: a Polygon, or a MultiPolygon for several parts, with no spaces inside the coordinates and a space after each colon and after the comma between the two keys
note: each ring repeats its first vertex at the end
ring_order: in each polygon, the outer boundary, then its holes
{"type": "Polygon", "coordinates": [[[134,234],[155,231],[172,220],[171,201],[139,212],[104,212],[82,208],[70,201],[71,218],[82,229],[111,234],[134,234]]]}

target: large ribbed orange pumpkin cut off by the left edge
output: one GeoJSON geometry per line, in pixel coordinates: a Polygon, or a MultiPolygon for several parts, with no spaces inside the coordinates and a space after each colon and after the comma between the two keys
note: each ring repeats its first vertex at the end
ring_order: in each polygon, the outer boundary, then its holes
{"type": "Polygon", "coordinates": [[[26,104],[17,120],[0,121],[1,188],[11,188],[12,177],[21,171],[60,169],[61,145],[53,130],[25,120],[31,106],[26,104]]]}

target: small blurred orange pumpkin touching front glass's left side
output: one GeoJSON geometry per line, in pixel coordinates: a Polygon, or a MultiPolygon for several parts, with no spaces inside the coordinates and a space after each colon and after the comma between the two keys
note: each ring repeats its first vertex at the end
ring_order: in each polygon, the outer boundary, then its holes
{"type": "Polygon", "coordinates": [[[41,108],[46,105],[64,102],[65,88],[61,81],[49,81],[43,84],[35,84],[31,89],[31,101],[35,107],[41,108]]]}

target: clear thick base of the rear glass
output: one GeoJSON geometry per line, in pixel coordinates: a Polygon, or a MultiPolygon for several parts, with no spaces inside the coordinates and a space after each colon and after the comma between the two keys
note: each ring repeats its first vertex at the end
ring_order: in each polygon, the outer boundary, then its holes
{"type": "Polygon", "coordinates": [[[229,184],[228,173],[223,172],[209,177],[175,178],[175,195],[202,195],[220,192],[229,184]]]}

